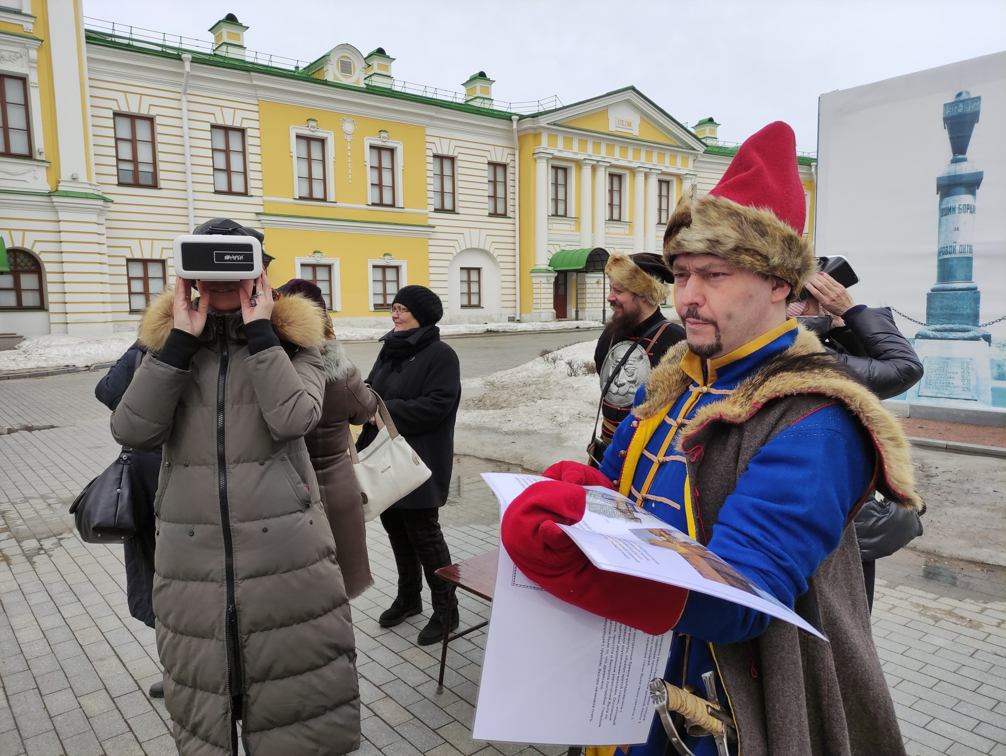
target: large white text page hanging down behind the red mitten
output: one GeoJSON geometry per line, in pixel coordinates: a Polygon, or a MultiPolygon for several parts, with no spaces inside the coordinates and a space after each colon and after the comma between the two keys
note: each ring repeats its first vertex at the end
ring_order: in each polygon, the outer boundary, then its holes
{"type": "MultiPolygon", "coordinates": [[[[546,479],[482,477],[503,510],[546,479]]],[[[644,742],[653,719],[647,688],[664,672],[671,635],[648,635],[550,596],[500,549],[472,737],[565,746],[644,742]]]]}

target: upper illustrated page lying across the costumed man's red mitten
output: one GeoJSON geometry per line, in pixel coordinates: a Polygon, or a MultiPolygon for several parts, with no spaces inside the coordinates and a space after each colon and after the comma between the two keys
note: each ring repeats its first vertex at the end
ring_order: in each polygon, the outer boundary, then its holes
{"type": "Polygon", "coordinates": [[[687,588],[790,622],[827,640],[813,625],[704,546],[608,488],[586,490],[586,511],[562,525],[602,570],[687,588]]]}

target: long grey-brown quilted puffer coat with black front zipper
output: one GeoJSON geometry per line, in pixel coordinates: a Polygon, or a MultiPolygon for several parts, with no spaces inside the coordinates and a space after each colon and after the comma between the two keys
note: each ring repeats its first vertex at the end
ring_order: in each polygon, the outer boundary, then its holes
{"type": "Polygon", "coordinates": [[[257,354],[239,313],[210,313],[182,370],[156,358],[172,296],[143,316],[155,358],[137,370],[112,433],[164,447],[154,613],[178,751],[238,756],[241,718],[252,756],[346,753],[360,739],[353,628],[303,438],[321,417],[320,312],[278,301],[272,323],[285,343],[257,354]]]}

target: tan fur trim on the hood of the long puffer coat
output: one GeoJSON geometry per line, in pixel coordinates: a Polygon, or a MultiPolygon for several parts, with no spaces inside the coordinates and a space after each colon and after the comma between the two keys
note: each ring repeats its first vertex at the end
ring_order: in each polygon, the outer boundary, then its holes
{"type": "MultiPolygon", "coordinates": [[[[153,300],[140,319],[140,343],[160,351],[175,325],[174,289],[165,289],[153,300]]],[[[324,315],[314,302],[299,294],[280,297],[273,303],[270,318],[276,335],[301,347],[321,346],[324,342],[324,315]]]]}

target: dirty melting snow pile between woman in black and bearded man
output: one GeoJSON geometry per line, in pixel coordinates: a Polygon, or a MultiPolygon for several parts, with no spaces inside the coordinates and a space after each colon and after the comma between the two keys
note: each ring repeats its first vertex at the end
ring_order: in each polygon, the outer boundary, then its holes
{"type": "Polygon", "coordinates": [[[523,436],[530,444],[537,434],[554,434],[585,448],[601,393],[594,366],[597,343],[582,341],[509,370],[463,381],[458,428],[523,436]]]}

